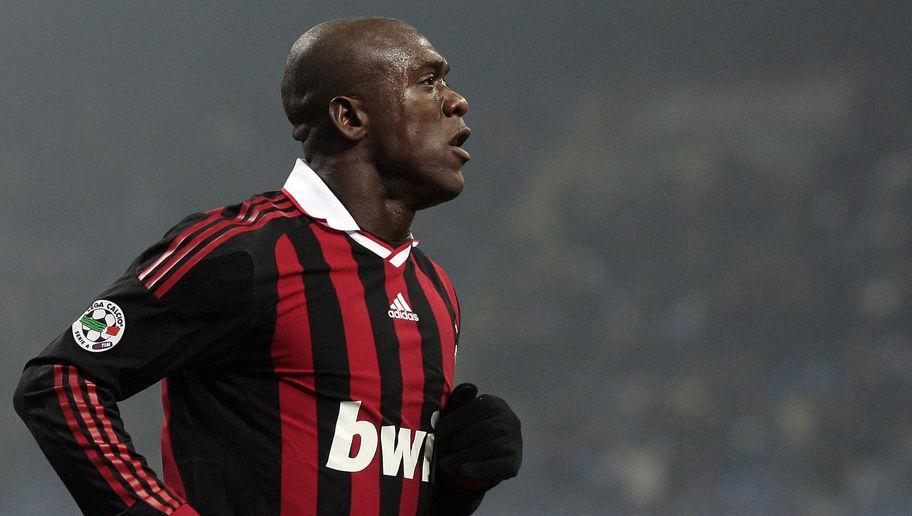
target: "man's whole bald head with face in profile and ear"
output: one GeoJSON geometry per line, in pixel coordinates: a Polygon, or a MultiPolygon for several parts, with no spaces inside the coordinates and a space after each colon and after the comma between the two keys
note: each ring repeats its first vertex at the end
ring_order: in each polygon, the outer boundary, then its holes
{"type": "Polygon", "coordinates": [[[393,203],[410,219],[462,191],[468,102],[447,84],[449,69],[426,37],[391,18],[331,20],[292,45],[282,79],[292,135],[346,208],[368,199],[380,206],[371,213],[391,217],[393,203]]]}

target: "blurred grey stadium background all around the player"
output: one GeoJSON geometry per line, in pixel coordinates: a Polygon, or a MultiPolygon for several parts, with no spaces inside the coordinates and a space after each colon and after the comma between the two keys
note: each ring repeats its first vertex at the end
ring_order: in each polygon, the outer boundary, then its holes
{"type": "MultiPolygon", "coordinates": [[[[912,512],[910,5],[4,1],[0,513],[77,513],[22,365],[184,215],[282,185],[285,54],[352,15],[470,102],[466,190],[414,232],[457,380],[523,420],[479,514],[912,512]]],[[[123,413],[159,467],[157,389],[123,413]]]]}

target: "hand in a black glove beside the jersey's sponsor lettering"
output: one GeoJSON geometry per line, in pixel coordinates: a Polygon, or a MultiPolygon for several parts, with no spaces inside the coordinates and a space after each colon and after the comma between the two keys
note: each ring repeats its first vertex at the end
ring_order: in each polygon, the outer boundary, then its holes
{"type": "Polygon", "coordinates": [[[450,393],[437,421],[438,481],[484,492],[515,477],[522,464],[519,418],[507,402],[470,383],[450,393]]]}

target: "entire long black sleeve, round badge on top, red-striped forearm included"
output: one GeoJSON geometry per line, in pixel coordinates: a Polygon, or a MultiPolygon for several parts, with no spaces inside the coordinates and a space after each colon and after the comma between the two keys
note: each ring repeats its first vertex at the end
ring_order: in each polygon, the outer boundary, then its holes
{"type": "Polygon", "coordinates": [[[160,379],[228,360],[253,288],[243,250],[211,253],[168,285],[140,276],[141,256],[25,367],[14,403],[86,514],[196,514],[133,447],[117,408],[160,379]]]}

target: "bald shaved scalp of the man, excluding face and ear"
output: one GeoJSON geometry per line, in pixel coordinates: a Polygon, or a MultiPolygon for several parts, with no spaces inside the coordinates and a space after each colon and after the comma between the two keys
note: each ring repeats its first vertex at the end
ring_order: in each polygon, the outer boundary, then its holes
{"type": "Polygon", "coordinates": [[[418,39],[424,36],[417,29],[392,18],[331,20],[302,34],[282,78],[282,104],[295,139],[307,140],[328,120],[333,98],[374,95],[406,65],[406,50],[418,39]]]}

